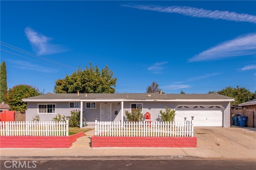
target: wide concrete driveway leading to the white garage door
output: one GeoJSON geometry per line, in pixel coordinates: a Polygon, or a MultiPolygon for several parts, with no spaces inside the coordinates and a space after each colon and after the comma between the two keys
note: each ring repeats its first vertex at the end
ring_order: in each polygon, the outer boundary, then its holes
{"type": "Polygon", "coordinates": [[[196,152],[183,149],[189,156],[256,158],[256,128],[194,127],[196,152]]]}

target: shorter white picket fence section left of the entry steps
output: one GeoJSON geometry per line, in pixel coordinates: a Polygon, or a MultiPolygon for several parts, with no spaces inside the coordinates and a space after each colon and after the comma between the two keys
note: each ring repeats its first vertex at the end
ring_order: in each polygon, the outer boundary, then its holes
{"type": "Polygon", "coordinates": [[[68,120],[0,121],[1,136],[68,136],[68,120]]]}

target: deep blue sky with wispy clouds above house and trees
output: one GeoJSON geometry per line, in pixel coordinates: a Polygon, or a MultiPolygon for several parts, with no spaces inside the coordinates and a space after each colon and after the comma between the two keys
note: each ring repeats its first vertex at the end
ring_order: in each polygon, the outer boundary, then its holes
{"type": "Polygon", "coordinates": [[[53,92],[91,62],[108,65],[119,93],[153,81],[166,93],[256,90],[256,1],[0,3],[8,87],[53,92]]]}

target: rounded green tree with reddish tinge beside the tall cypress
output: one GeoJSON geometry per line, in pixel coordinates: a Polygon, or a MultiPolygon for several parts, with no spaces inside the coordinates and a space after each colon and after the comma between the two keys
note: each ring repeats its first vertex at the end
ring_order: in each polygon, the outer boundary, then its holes
{"type": "Polygon", "coordinates": [[[41,93],[39,89],[27,84],[19,84],[9,88],[8,94],[5,95],[6,103],[10,106],[10,110],[20,111],[24,113],[27,109],[27,102],[22,99],[38,96],[41,93]]]}

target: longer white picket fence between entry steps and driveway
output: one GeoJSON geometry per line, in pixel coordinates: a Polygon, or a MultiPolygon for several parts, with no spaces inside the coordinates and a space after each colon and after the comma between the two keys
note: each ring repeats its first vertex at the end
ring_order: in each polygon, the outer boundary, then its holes
{"type": "Polygon", "coordinates": [[[95,120],[95,136],[193,137],[194,125],[186,122],[123,122],[95,120]]]}

